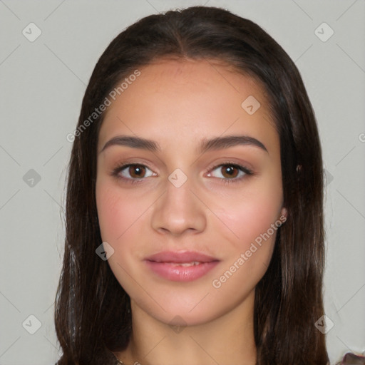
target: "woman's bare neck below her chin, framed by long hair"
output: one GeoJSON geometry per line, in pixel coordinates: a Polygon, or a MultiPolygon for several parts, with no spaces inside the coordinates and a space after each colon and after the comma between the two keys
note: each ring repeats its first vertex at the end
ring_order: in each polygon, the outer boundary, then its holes
{"type": "Polygon", "coordinates": [[[125,365],[255,365],[254,297],[252,292],[221,317],[186,327],[160,322],[131,301],[132,334],[116,356],[125,365]]]}

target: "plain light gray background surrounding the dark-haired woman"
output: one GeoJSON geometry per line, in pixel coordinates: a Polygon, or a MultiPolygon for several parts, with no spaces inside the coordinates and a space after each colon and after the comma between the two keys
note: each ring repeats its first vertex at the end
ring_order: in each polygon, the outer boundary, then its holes
{"type": "Polygon", "coordinates": [[[98,57],[137,19],[194,4],[257,22],[302,73],[327,170],[324,299],[331,363],[346,351],[365,350],[364,0],[0,0],[1,365],[58,359],[53,302],[71,152],[66,135],[76,127],[98,57]],[[33,42],[31,22],[41,29],[33,42]],[[334,31],[326,41],[330,29],[323,22],[334,31]],[[37,319],[41,327],[30,334],[37,319]]]}

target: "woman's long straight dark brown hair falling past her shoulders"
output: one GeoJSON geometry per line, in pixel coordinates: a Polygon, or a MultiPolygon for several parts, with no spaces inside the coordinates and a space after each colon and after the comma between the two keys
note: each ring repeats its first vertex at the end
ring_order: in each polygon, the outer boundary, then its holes
{"type": "MultiPolygon", "coordinates": [[[[279,133],[287,221],[277,231],[267,272],[255,288],[257,365],[328,364],[324,314],[323,167],[317,123],[294,62],[254,22],[192,6],[140,19],[109,44],[91,75],[78,128],[137,67],[163,58],[222,61],[263,86],[279,133]]],[[[66,240],[56,293],[58,365],[115,364],[131,331],[130,298],[96,255],[96,158],[103,115],[73,141],[68,166],[66,240]]]]}

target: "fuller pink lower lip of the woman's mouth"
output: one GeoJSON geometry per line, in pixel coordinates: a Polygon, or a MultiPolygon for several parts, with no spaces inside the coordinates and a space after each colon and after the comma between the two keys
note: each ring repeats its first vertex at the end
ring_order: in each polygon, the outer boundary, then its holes
{"type": "Polygon", "coordinates": [[[209,272],[218,261],[202,262],[192,266],[174,266],[168,262],[154,262],[146,260],[147,266],[156,274],[173,282],[191,282],[209,272]]]}

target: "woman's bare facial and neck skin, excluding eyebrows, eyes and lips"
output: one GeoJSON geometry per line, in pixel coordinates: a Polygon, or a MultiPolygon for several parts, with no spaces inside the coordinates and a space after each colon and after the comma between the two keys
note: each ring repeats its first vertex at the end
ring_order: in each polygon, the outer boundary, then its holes
{"type": "Polygon", "coordinates": [[[130,296],[133,316],[130,343],[116,356],[126,365],[255,364],[255,286],[276,231],[219,288],[212,281],[286,216],[279,135],[264,93],[252,78],[213,61],[160,60],[139,70],[108,108],[98,138],[101,237],[114,249],[108,263],[130,296]],[[261,103],[252,115],[241,107],[248,96],[261,103]],[[121,145],[101,152],[116,135],[155,140],[161,152],[121,145]],[[256,138],[267,151],[235,145],[195,152],[202,139],[225,135],[256,138]],[[230,165],[215,168],[227,160],[254,174],[235,170],[230,177],[230,165]],[[111,172],[121,163],[145,169],[138,175],[125,168],[119,176],[129,180],[118,180],[111,172]],[[177,168],[187,177],[180,187],[168,180],[177,168]],[[128,183],[140,177],[141,183],[128,183]],[[225,184],[229,179],[237,182],[225,184]],[[194,250],[220,262],[200,279],[172,282],[143,262],[165,250],[194,250]]]}

